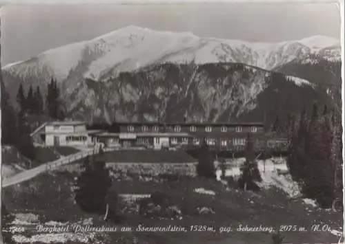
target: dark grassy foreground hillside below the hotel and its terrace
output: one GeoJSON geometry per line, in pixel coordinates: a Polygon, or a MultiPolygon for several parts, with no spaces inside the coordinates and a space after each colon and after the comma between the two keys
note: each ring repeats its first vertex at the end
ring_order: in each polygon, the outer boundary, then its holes
{"type": "MultiPolygon", "coordinates": [[[[268,173],[266,173],[267,175],[268,173]]],[[[144,217],[137,212],[135,199],[124,199],[126,226],[137,227],[139,224],[179,225],[188,228],[187,232],[79,232],[37,234],[28,231],[25,234],[14,233],[17,243],[35,243],[48,240],[60,243],[136,243],[175,244],[175,243],[270,243],[269,232],[239,232],[239,225],[265,226],[277,230],[279,225],[297,225],[306,227],[305,232],[282,232],[286,243],[335,243],[339,237],[331,232],[312,232],[312,224],[327,224],[331,230],[339,230],[342,225],[341,214],[321,210],[306,205],[302,199],[289,200],[282,190],[264,188],[261,192],[242,192],[235,188],[227,188],[219,181],[179,177],[165,179],[163,177],[135,177],[133,174],[115,177],[115,187],[121,189],[120,194],[130,192],[153,193],[157,190],[169,196],[170,206],[181,211],[175,218],[144,217]],[[120,177],[120,178],[119,178],[120,177]],[[204,190],[200,190],[204,189],[204,190]],[[190,225],[207,225],[214,231],[193,232],[190,225]],[[221,232],[221,227],[232,227],[221,232]]],[[[3,189],[3,203],[8,212],[13,214],[12,223],[21,226],[32,224],[45,225],[106,225],[115,226],[103,221],[103,216],[81,212],[73,201],[72,184],[75,173],[66,169],[55,173],[46,173],[30,179],[22,184],[3,189]],[[35,192],[35,194],[32,194],[35,192]],[[57,194],[59,192],[59,194],[57,194]],[[24,210],[25,209],[25,210],[24,210]]],[[[267,177],[266,177],[267,178],[267,177]]],[[[266,179],[265,178],[265,179],[266,179]]]]}

